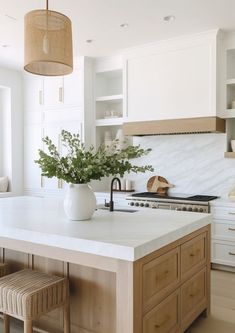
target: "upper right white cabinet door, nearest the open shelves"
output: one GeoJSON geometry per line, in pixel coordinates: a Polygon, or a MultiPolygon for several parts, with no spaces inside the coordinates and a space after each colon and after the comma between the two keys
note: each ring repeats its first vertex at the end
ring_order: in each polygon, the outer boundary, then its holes
{"type": "Polygon", "coordinates": [[[64,104],[81,106],[83,104],[83,72],[74,69],[73,73],[64,77],[64,104]]]}

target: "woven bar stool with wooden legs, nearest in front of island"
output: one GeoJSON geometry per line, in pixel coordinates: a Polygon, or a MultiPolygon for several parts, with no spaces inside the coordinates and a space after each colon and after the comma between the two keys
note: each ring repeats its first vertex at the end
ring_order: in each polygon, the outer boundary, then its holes
{"type": "Polygon", "coordinates": [[[11,317],[24,321],[24,333],[32,333],[32,322],[56,308],[64,309],[64,333],[70,332],[68,279],[25,269],[0,278],[0,312],[4,333],[11,317]]]}

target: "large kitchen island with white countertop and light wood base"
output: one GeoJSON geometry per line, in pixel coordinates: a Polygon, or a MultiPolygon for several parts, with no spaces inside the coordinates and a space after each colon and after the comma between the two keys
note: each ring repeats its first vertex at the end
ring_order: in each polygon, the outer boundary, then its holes
{"type": "MultiPolygon", "coordinates": [[[[210,307],[208,214],[98,210],[66,219],[62,202],[0,199],[1,259],[70,280],[79,333],[183,332],[210,307]]],[[[36,325],[62,329],[60,310],[36,325]]]]}

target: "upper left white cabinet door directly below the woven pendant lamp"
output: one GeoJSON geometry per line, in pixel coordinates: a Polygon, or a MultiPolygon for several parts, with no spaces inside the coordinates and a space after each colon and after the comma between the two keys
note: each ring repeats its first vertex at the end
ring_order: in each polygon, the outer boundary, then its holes
{"type": "Polygon", "coordinates": [[[39,111],[44,104],[43,78],[25,74],[24,77],[24,107],[26,111],[39,111]]]}

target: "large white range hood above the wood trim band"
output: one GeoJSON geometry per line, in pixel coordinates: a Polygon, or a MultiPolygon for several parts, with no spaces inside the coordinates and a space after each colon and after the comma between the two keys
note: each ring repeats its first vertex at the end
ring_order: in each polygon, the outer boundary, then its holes
{"type": "Polygon", "coordinates": [[[126,121],[216,116],[216,32],[126,56],[126,121]]]}

